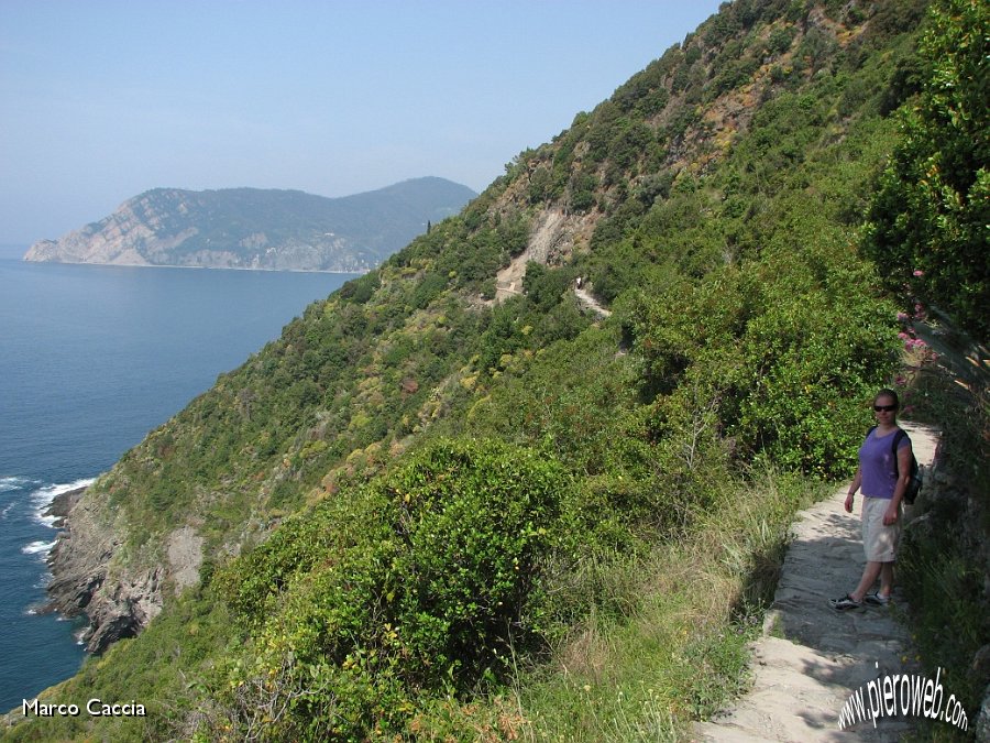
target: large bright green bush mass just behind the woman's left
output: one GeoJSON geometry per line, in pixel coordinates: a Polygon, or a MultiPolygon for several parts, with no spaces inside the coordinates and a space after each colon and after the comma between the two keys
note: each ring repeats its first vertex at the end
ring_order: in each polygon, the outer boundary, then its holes
{"type": "Polygon", "coordinates": [[[806,247],[642,296],[632,324],[657,435],[698,459],[693,448],[721,434],[746,458],[847,473],[897,359],[892,308],[846,291],[869,282],[854,256],[806,247]]]}

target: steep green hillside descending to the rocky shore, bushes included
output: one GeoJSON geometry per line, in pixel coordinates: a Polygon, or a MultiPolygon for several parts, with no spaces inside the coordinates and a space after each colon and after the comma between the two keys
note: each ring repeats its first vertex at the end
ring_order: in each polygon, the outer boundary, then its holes
{"type": "Polygon", "coordinates": [[[847,472],[897,354],[855,243],[922,17],[727,6],[307,308],[73,512],[56,599],[92,646],[164,610],[53,693],[144,693],[152,735],[414,734],[622,615],[595,566],[692,534],[754,462],[847,472]]]}

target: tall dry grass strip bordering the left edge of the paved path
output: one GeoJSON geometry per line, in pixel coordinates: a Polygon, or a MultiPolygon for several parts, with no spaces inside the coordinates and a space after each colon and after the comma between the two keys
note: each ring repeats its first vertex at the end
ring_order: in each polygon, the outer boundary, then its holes
{"type": "Polygon", "coordinates": [[[747,643],[772,599],[793,516],[826,492],[761,471],[726,484],[686,539],[614,566],[615,584],[629,592],[625,605],[635,609],[592,613],[550,664],[520,671],[515,734],[678,740],[717,711],[748,682],[747,643]]]}

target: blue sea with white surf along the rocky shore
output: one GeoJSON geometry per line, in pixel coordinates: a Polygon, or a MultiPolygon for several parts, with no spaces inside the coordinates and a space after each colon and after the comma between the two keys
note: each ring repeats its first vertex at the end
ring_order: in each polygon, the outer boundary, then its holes
{"type": "Polygon", "coordinates": [[[0,258],[0,711],[84,656],[78,623],[33,613],[56,534],[41,510],[351,277],[0,258]]]}

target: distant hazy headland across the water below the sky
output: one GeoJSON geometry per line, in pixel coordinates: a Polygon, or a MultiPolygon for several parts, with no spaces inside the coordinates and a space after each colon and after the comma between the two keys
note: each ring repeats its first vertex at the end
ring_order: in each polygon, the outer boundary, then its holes
{"type": "Polygon", "coordinates": [[[155,188],[109,217],[42,240],[28,261],[366,271],[475,196],[443,178],[326,198],[298,190],[155,188]]]}

